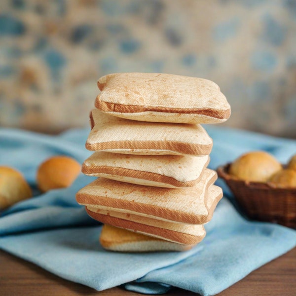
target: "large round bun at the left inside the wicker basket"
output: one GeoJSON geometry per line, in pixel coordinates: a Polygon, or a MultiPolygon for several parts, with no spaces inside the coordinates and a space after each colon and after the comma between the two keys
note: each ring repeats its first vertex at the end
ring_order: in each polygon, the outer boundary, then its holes
{"type": "Polygon", "coordinates": [[[266,182],[282,169],[281,163],[265,151],[251,151],[238,157],[229,168],[229,174],[239,180],[266,182]]]}

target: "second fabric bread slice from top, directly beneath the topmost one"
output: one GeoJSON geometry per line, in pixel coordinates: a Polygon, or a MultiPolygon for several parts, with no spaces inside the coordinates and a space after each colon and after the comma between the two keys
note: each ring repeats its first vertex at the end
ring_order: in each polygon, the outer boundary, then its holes
{"type": "Polygon", "coordinates": [[[99,110],[90,113],[91,131],[85,147],[124,154],[209,155],[213,140],[199,124],[143,122],[99,110]]]}

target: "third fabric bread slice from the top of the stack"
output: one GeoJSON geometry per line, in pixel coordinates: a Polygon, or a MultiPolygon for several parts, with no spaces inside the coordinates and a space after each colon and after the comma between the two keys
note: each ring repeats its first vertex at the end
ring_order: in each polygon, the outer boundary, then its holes
{"type": "Polygon", "coordinates": [[[186,187],[198,182],[210,157],[131,155],[98,151],[82,165],[82,173],[116,181],[158,187],[186,187]]]}

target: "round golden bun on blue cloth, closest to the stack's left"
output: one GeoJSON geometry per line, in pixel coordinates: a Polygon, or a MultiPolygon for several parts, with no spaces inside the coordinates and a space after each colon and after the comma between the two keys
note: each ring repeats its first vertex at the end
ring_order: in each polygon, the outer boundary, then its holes
{"type": "Polygon", "coordinates": [[[37,170],[37,185],[46,192],[72,185],[81,171],[81,165],[69,156],[53,156],[40,164],[37,170]]]}

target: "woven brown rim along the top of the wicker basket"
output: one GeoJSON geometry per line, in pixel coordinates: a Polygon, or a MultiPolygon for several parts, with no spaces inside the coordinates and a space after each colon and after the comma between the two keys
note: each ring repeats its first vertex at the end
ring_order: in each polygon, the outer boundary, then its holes
{"type": "Polygon", "coordinates": [[[226,164],[219,166],[217,168],[218,176],[220,178],[222,178],[223,180],[225,180],[226,182],[229,182],[229,181],[235,182],[235,183],[237,183],[237,185],[247,186],[247,187],[256,188],[256,189],[274,190],[277,192],[290,191],[290,192],[296,193],[296,187],[295,188],[294,187],[293,188],[283,188],[283,187],[276,187],[272,183],[268,183],[268,182],[264,183],[264,182],[240,180],[237,177],[228,174],[228,169],[229,169],[230,165],[231,165],[231,162],[226,163],[226,164]]]}

